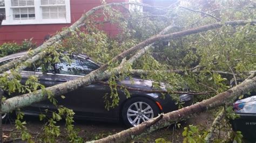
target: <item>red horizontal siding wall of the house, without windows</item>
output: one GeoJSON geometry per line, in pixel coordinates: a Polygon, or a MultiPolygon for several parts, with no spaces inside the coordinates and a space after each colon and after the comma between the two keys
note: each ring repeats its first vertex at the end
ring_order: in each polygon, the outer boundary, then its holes
{"type": "MultiPolygon", "coordinates": [[[[107,3],[127,2],[129,0],[106,0],[107,3]]],[[[71,24],[75,23],[85,11],[100,5],[100,0],[70,0],[71,24]]],[[[0,44],[4,42],[21,43],[24,39],[33,38],[38,45],[43,42],[47,34],[55,34],[63,27],[71,24],[34,24],[34,25],[3,25],[0,28],[0,44]]],[[[105,24],[104,30],[107,34],[117,34],[117,28],[111,24],[105,24]]]]}

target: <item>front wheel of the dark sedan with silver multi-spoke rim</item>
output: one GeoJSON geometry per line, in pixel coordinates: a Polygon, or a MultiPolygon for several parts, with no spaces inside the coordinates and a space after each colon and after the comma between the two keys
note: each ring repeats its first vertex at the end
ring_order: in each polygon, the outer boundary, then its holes
{"type": "Polygon", "coordinates": [[[122,108],[122,119],[125,125],[132,127],[157,117],[159,113],[157,104],[151,99],[134,97],[125,102],[122,108]]]}

